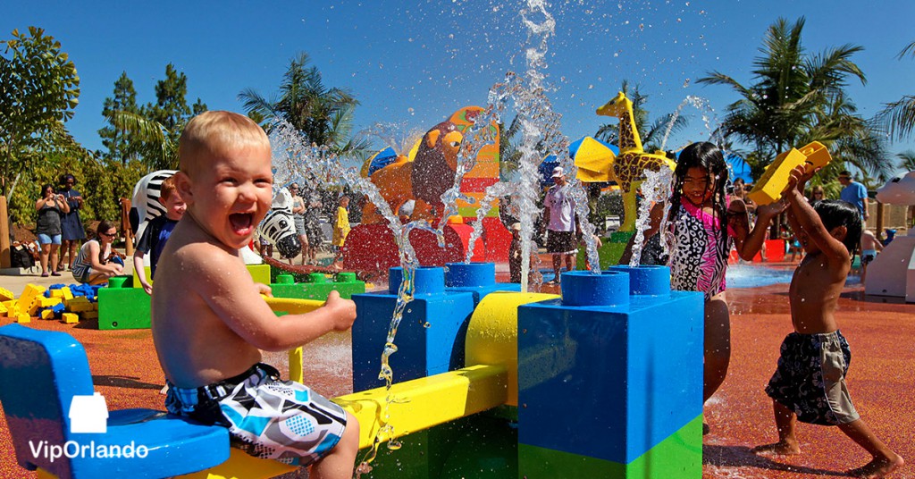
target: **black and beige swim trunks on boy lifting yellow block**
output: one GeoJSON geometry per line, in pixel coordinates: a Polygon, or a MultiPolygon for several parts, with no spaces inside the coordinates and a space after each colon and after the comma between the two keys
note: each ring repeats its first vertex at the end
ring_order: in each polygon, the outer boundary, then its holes
{"type": "Polygon", "coordinates": [[[781,343],[779,367],[766,394],[802,422],[823,426],[853,422],[860,416],[845,386],[851,357],[841,332],[791,332],[781,343]]]}

